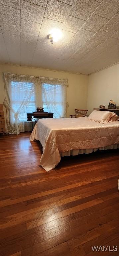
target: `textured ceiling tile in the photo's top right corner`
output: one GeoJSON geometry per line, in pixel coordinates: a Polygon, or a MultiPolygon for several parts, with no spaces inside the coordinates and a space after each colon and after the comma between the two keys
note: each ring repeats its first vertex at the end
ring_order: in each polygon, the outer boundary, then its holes
{"type": "Polygon", "coordinates": [[[94,11],[95,14],[111,19],[119,10],[119,1],[105,0],[94,11]]]}

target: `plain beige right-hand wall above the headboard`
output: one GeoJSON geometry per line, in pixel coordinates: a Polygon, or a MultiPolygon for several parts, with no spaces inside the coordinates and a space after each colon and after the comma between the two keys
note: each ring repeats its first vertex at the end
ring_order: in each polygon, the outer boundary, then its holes
{"type": "Polygon", "coordinates": [[[119,65],[95,72],[88,77],[88,114],[99,105],[108,107],[109,101],[113,99],[119,105],[119,65]]]}

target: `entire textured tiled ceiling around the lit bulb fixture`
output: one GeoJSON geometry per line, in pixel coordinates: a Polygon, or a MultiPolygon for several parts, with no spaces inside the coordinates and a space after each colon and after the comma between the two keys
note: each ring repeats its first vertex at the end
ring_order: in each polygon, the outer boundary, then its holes
{"type": "Polygon", "coordinates": [[[0,1],[0,62],[89,74],[118,62],[117,1],[0,1]],[[21,4],[21,15],[20,15],[21,4]],[[62,38],[51,44],[53,28],[62,38]]]}

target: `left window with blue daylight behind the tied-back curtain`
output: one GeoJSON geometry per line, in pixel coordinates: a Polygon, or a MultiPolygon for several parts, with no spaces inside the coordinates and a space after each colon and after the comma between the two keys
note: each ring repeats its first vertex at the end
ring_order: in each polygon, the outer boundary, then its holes
{"type": "MultiPolygon", "coordinates": [[[[34,84],[30,82],[15,82],[11,81],[11,107],[15,112],[19,109],[20,105],[22,104],[23,100],[25,101],[25,96],[27,95],[28,91],[31,90],[30,100],[26,102],[24,107],[24,113],[19,114],[19,120],[27,121],[27,114],[36,111],[36,101],[35,101],[35,92],[34,92],[34,84]]],[[[11,112],[11,115],[14,118],[14,113],[11,112]]]]}

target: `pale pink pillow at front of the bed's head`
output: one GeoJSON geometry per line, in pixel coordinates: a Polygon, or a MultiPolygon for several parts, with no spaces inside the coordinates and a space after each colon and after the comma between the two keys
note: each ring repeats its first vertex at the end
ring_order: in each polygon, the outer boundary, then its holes
{"type": "Polygon", "coordinates": [[[116,117],[116,114],[114,112],[93,110],[87,118],[104,124],[107,123],[113,116],[116,117]]]}

